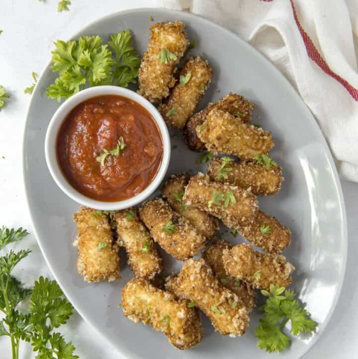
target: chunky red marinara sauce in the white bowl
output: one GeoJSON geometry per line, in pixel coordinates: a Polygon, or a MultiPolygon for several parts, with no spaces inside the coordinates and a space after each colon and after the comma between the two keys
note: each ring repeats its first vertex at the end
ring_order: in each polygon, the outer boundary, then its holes
{"type": "MultiPolygon", "coordinates": [[[[78,105],[57,136],[57,159],[68,182],[83,195],[106,202],[142,192],[156,176],[163,140],[152,115],[117,95],[98,96],[78,105]],[[109,154],[124,141],[119,154],[109,154]]],[[[115,153],[115,152],[114,152],[115,153]]]]}

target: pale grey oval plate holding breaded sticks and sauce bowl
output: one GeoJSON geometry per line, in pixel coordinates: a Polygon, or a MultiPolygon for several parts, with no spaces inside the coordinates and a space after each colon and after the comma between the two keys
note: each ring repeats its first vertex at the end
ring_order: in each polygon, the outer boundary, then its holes
{"type": "MultiPolygon", "coordinates": [[[[104,17],[83,29],[80,35],[109,34],[130,29],[134,44],[143,54],[150,22],[181,20],[189,39],[195,39],[192,54],[208,59],[213,81],[200,108],[228,92],[237,92],[257,107],[254,123],[272,132],[272,157],[283,167],[285,181],[279,194],[260,198],[261,207],[292,231],[292,244],[284,254],[296,270],[292,287],[299,293],[312,318],[319,323],[312,337],[295,338],[280,358],[300,358],[322,334],[337,303],[347,255],[346,214],[340,181],[323,135],[311,113],[287,80],[254,48],[232,32],[204,18],[167,9],[136,9],[104,17]],[[220,92],[219,92],[220,91],[220,92]]],[[[49,120],[59,104],[47,100],[45,88],[55,79],[46,67],[32,94],[24,134],[24,180],[33,227],[43,255],[63,291],[82,317],[105,336],[119,352],[136,359],[241,359],[272,358],[256,347],[254,330],[260,313],[251,316],[250,328],[242,338],[214,333],[206,319],[204,339],[191,350],[179,351],[149,326],[134,324],[117,308],[121,289],[132,278],[125,267],[122,279],[112,283],[88,284],[76,269],[75,224],[78,205],[55,184],[45,163],[44,139],[49,120]]],[[[198,154],[189,151],[178,132],[172,139],[168,175],[175,171],[205,171],[195,164],[198,154]]],[[[233,243],[242,241],[230,234],[233,243]]],[[[122,261],[124,263],[124,260],[122,261]]],[[[168,256],[166,270],[179,268],[168,256]]],[[[123,265],[122,265],[123,266],[123,265]]]]}

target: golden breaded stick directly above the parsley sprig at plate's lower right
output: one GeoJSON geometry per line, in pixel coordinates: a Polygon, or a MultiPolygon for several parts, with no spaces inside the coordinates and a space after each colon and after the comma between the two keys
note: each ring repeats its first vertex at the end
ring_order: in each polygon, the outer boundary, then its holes
{"type": "Polygon", "coordinates": [[[269,290],[270,284],[288,287],[292,281],[294,266],[286,262],[286,257],[255,251],[250,244],[224,249],[223,262],[226,273],[254,288],[269,290]]]}

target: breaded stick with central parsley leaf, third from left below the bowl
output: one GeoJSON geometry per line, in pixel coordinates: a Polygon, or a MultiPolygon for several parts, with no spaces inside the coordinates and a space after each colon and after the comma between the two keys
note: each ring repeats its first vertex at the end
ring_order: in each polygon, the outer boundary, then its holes
{"type": "Polygon", "coordinates": [[[153,239],[179,260],[199,254],[205,246],[207,239],[160,198],[145,203],[139,216],[153,239]]]}

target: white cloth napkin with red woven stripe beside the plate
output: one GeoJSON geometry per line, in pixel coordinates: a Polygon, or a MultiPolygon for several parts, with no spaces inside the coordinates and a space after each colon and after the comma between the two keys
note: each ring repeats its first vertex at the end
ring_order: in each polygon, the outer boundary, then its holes
{"type": "Polygon", "coordinates": [[[357,0],[162,1],[229,27],[267,56],[315,116],[341,177],[358,182],[357,0]]]}

